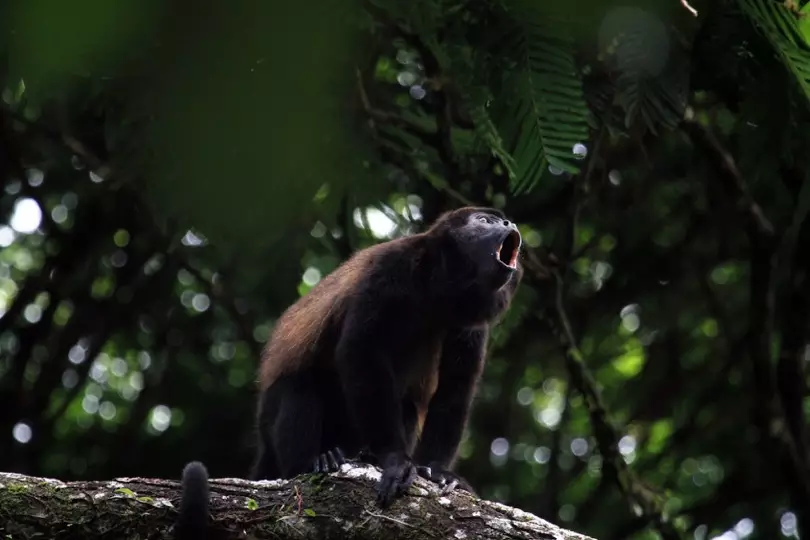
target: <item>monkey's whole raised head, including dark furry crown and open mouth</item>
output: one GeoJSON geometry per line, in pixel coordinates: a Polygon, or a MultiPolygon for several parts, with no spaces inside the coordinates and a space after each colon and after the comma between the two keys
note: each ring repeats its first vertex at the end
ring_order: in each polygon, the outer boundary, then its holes
{"type": "Polygon", "coordinates": [[[496,291],[518,270],[520,232],[500,210],[459,208],[441,216],[427,234],[442,239],[447,269],[478,286],[496,291]]]}

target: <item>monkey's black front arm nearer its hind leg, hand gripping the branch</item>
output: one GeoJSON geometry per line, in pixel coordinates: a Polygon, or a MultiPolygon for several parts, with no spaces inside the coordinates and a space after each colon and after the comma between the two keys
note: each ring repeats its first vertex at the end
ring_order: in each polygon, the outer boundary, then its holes
{"type": "Polygon", "coordinates": [[[383,507],[416,478],[416,469],[405,452],[402,392],[392,366],[393,353],[404,337],[396,313],[393,307],[350,309],[335,350],[349,412],[383,468],[377,486],[377,501],[383,507]]]}

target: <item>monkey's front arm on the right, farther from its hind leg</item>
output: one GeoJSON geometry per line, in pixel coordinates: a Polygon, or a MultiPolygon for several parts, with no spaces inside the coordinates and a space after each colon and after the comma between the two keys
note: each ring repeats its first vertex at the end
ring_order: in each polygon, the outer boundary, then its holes
{"type": "Polygon", "coordinates": [[[488,331],[487,327],[454,331],[443,344],[439,386],[430,401],[415,456],[417,463],[431,468],[433,479],[446,473],[455,461],[483,370],[488,331]]]}

